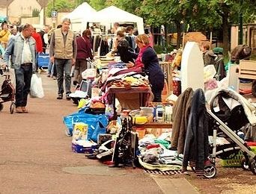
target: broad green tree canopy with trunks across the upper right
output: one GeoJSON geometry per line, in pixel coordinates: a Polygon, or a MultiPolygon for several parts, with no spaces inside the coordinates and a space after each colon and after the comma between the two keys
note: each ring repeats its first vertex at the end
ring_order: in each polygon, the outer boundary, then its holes
{"type": "Polygon", "coordinates": [[[189,31],[213,31],[222,29],[225,53],[229,48],[229,31],[231,24],[239,22],[240,11],[243,11],[244,23],[255,19],[255,1],[252,0],[144,0],[137,13],[143,16],[148,25],[168,25],[174,22],[177,26],[180,45],[181,22],[189,24],[189,31]]]}

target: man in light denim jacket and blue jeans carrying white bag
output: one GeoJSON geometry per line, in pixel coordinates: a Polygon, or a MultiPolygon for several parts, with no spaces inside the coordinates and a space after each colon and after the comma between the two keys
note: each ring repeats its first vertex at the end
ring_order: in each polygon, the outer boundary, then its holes
{"type": "Polygon", "coordinates": [[[10,38],[4,52],[4,62],[15,71],[16,78],[16,113],[28,113],[26,108],[30,91],[32,73],[35,72],[36,44],[31,34],[34,28],[30,24],[23,26],[22,32],[10,38]]]}

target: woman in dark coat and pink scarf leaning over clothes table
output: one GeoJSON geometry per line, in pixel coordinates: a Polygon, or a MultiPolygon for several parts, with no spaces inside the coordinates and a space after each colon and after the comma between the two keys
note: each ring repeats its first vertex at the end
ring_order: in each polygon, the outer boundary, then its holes
{"type": "Polygon", "coordinates": [[[127,67],[144,67],[144,71],[148,75],[148,79],[151,85],[153,93],[153,101],[162,101],[162,90],[165,83],[165,77],[159,66],[159,60],[156,55],[156,51],[150,46],[149,37],[147,34],[140,34],[135,40],[139,50],[138,57],[135,63],[127,63],[127,67]]]}

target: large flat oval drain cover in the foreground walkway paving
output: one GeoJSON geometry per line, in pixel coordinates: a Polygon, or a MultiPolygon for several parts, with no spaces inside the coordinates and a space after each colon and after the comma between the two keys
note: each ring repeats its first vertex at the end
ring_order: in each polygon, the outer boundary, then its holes
{"type": "Polygon", "coordinates": [[[107,166],[72,166],[62,169],[64,172],[79,175],[101,175],[101,176],[120,176],[126,175],[125,169],[109,168],[107,166]]]}

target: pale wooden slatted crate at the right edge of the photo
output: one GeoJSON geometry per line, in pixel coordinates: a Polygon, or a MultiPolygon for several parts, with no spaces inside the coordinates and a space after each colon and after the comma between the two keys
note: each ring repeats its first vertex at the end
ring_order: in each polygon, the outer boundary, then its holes
{"type": "Polygon", "coordinates": [[[240,60],[239,78],[256,79],[256,61],[255,60],[240,60]]]}

